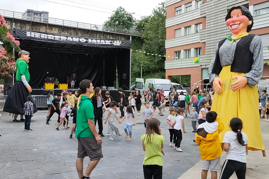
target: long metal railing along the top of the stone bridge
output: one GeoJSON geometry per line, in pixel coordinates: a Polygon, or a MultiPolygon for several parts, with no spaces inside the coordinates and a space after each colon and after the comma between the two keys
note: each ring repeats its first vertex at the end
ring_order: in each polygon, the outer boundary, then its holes
{"type": "Polygon", "coordinates": [[[103,25],[87,24],[83,22],[68,21],[68,20],[51,18],[51,17],[46,17],[46,16],[37,16],[33,14],[19,13],[19,12],[14,12],[14,11],[9,11],[9,10],[0,9],[0,14],[7,18],[23,19],[26,21],[41,22],[41,23],[61,25],[61,26],[66,26],[66,27],[96,30],[96,31],[101,31],[101,32],[109,32],[109,33],[126,34],[130,36],[138,36],[138,37],[142,37],[143,35],[143,32],[136,31],[136,30],[127,30],[127,29],[120,29],[116,27],[107,27],[103,25]]]}

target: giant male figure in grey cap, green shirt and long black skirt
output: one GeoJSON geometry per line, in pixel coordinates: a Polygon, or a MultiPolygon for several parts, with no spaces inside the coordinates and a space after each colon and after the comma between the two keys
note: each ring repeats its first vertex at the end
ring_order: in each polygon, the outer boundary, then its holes
{"type": "MultiPolygon", "coordinates": [[[[30,74],[28,70],[30,53],[25,50],[22,50],[19,52],[18,55],[19,59],[15,63],[16,82],[8,93],[7,100],[3,109],[4,112],[10,112],[15,114],[13,122],[19,122],[17,120],[17,116],[19,114],[21,115],[20,121],[25,121],[22,118],[24,114],[23,106],[24,103],[27,101],[27,96],[30,96],[30,92],[32,92],[32,88],[28,84],[28,82],[30,81],[30,74]]],[[[34,106],[34,112],[37,112],[37,108],[34,101],[31,100],[31,102],[34,106]]]]}

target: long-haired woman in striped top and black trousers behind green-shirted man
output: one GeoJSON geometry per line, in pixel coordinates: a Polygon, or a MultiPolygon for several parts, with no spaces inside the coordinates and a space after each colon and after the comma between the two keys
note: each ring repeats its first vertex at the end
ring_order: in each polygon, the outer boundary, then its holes
{"type": "Polygon", "coordinates": [[[92,104],[94,106],[94,123],[96,126],[96,122],[98,122],[99,132],[98,135],[101,137],[105,137],[103,135],[103,103],[102,103],[102,95],[101,89],[96,87],[94,90],[94,95],[92,96],[92,104]]]}

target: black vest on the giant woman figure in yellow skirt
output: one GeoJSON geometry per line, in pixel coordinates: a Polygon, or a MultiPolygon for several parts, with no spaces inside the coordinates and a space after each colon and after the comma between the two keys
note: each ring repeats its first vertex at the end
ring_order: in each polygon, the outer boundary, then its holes
{"type": "MultiPolygon", "coordinates": [[[[239,42],[237,42],[235,53],[233,56],[233,63],[231,65],[231,72],[248,73],[251,70],[253,64],[253,53],[250,52],[249,46],[254,36],[256,35],[248,34],[247,36],[242,37],[239,42]]],[[[219,75],[222,70],[219,58],[219,49],[225,40],[226,38],[224,38],[218,43],[218,52],[216,54],[215,62],[212,69],[212,73],[216,75],[219,75]]]]}

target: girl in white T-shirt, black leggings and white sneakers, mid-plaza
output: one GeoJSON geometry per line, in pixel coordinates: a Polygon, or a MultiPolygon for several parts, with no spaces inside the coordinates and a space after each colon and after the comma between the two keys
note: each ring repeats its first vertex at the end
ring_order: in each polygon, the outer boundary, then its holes
{"type": "Polygon", "coordinates": [[[172,127],[174,127],[174,131],[175,134],[177,136],[176,142],[175,142],[175,147],[174,149],[178,152],[182,152],[183,150],[180,148],[180,144],[182,141],[182,130],[184,133],[186,133],[185,131],[185,127],[184,127],[184,109],[179,108],[177,110],[178,116],[175,119],[175,122],[173,123],[172,127]]]}

